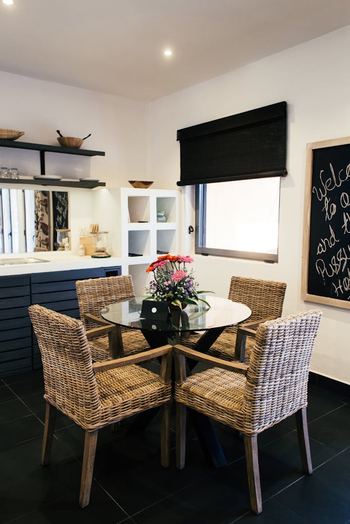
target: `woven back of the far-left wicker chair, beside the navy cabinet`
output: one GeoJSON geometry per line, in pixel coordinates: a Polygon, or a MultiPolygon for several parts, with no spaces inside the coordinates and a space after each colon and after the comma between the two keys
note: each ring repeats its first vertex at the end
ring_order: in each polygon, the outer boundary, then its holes
{"type": "Polygon", "coordinates": [[[135,296],[130,275],[77,280],[76,288],[80,318],[86,329],[93,328],[94,323],[84,319],[84,313],[100,317],[105,305],[135,296]]]}

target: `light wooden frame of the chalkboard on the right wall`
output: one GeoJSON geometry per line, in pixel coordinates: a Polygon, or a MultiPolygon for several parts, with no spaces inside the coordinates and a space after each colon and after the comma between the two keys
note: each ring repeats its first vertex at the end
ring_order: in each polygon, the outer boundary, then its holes
{"type": "Polygon", "coordinates": [[[311,222],[311,196],[313,176],[313,152],[315,149],[350,145],[350,137],[323,140],[306,145],[306,171],[305,171],[305,194],[304,194],[304,223],[303,223],[303,247],[302,247],[302,276],[301,276],[301,298],[305,301],[319,304],[332,305],[338,308],[350,309],[350,300],[323,297],[310,294],[309,288],[309,255],[310,255],[310,222],[311,222]]]}

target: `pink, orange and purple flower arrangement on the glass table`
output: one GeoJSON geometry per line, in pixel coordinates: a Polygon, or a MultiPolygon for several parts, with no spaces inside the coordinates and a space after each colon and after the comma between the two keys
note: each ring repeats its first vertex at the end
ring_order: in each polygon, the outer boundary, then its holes
{"type": "Polygon", "coordinates": [[[188,271],[187,265],[192,264],[193,258],[181,255],[162,255],[147,267],[146,272],[153,271],[154,278],[145,288],[146,293],[157,302],[169,302],[180,309],[186,304],[201,304],[208,302],[198,297],[198,283],[194,277],[193,269],[188,271]]]}

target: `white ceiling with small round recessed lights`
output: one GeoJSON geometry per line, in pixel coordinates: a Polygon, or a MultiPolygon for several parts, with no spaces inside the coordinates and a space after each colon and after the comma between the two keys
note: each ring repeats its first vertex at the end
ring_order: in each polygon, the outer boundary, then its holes
{"type": "Polygon", "coordinates": [[[140,101],[350,24],[349,0],[14,2],[0,3],[0,70],[140,101]]]}

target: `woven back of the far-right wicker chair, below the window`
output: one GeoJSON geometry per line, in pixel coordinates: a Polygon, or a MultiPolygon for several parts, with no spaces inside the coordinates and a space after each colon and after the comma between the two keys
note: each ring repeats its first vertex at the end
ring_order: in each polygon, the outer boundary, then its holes
{"type": "MultiPolygon", "coordinates": [[[[278,318],[282,315],[286,287],[284,282],[234,276],[231,277],[228,298],[234,302],[242,302],[251,309],[249,321],[267,316],[278,318]]],[[[229,331],[236,333],[237,327],[229,328],[229,331]]]]}

